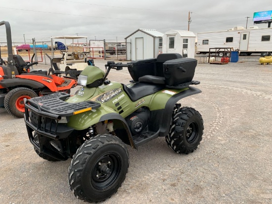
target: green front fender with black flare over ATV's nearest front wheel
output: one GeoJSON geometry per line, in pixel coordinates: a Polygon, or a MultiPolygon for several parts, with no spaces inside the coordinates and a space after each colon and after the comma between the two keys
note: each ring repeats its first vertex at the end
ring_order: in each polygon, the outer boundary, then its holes
{"type": "Polygon", "coordinates": [[[137,149],[135,143],[133,142],[131,131],[128,127],[126,120],[113,109],[101,105],[97,109],[86,111],[80,114],[73,115],[69,118],[68,126],[74,128],[75,130],[85,130],[92,125],[106,121],[113,120],[113,124],[118,123],[119,129],[123,130],[122,133],[126,135],[118,135],[118,137],[127,145],[132,148],[137,149]]]}

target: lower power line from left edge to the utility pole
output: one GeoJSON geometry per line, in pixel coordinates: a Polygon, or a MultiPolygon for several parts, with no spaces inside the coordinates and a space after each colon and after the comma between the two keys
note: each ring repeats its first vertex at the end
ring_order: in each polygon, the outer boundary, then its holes
{"type": "Polygon", "coordinates": [[[32,11],[32,12],[39,12],[39,13],[51,13],[51,14],[60,14],[60,15],[71,15],[71,16],[81,16],[81,17],[92,17],[92,18],[107,18],[107,19],[119,19],[119,20],[137,20],[137,21],[185,22],[185,21],[179,21],[179,20],[147,20],[147,19],[111,18],[111,17],[90,16],[90,15],[76,15],[76,14],[68,14],[68,13],[55,13],[55,12],[38,11],[38,10],[29,10],[29,9],[20,9],[20,8],[8,8],[8,7],[1,7],[1,8],[13,9],[13,10],[23,10],[23,11],[32,11]]]}

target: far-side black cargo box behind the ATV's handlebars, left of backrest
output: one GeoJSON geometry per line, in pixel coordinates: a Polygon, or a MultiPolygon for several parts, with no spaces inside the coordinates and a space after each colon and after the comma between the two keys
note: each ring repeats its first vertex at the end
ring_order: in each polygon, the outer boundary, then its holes
{"type": "Polygon", "coordinates": [[[134,81],[139,81],[139,77],[145,75],[156,75],[156,58],[151,59],[141,59],[129,62],[128,64],[133,64],[132,68],[128,68],[131,77],[134,81]]]}

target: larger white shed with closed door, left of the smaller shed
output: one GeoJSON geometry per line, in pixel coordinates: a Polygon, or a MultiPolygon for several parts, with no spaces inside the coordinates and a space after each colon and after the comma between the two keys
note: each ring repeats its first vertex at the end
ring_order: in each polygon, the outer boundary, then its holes
{"type": "Polygon", "coordinates": [[[131,42],[131,57],[127,58],[131,60],[156,58],[162,52],[162,36],[163,33],[154,29],[136,30],[125,38],[126,43],[131,42]]]}

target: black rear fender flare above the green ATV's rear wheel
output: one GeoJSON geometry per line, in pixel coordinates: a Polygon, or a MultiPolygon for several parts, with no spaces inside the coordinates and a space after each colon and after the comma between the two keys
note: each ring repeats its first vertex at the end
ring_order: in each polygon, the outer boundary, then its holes
{"type": "Polygon", "coordinates": [[[164,121],[161,125],[161,130],[160,130],[160,135],[159,135],[160,137],[164,137],[169,133],[170,124],[171,124],[171,120],[172,120],[172,113],[173,113],[173,109],[174,109],[175,104],[185,97],[199,94],[201,92],[202,91],[200,89],[197,89],[195,87],[189,87],[189,89],[172,96],[168,100],[168,102],[165,105],[165,109],[164,109],[164,113],[163,113],[164,121]]]}

